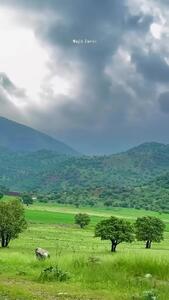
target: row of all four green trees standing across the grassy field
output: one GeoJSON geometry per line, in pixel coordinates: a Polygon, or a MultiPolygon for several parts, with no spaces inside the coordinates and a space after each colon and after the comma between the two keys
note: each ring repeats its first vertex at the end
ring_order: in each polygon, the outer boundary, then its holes
{"type": "MultiPolygon", "coordinates": [[[[87,214],[77,214],[75,223],[84,228],[90,223],[87,214]]],[[[7,247],[11,239],[17,238],[27,227],[24,208],[19,200],[0,201],[0,241],[2,247],[7,247]]],[[[152,242],[163,240],[165,224],[156,217],[141,217],[134,224],[128,220],[111,217],[100,221],[95,227],[95,237],[111,241],[111,251],[116,251],[122,242],[132,242],[135,237],[146,242],[146,248],[151,248],[152,242]]]]}

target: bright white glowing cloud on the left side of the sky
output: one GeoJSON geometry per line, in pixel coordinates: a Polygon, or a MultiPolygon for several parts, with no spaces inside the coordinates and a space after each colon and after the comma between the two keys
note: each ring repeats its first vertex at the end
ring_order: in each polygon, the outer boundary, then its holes
{"type": "Polygon", "coordinates": [[[25,89],[27,96],[26,99],[14,96],[11,102],[18,109],[26,109],[26,106],[45,109],[58,95],[77,97],[81,81],[79,66],[70,63],[64,66],[59,51],[56,56],[56,49],[53,60],[52,49],[37,39],[36,25],[42,21],[45,24],[45,16],[42,20],[43,16],[31,18],[28,14],[24,23],[23,14],[23,11],[0,7],[0,72],[6,73],[17,87],[25,89]]]}

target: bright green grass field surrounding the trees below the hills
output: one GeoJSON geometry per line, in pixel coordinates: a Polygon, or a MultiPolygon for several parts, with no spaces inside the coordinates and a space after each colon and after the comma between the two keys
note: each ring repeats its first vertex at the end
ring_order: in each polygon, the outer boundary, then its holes
{"type": "Polygon", "coordinates": [[[0,299],[169,299],[169,215],[132,209],[99,209],[35,204],[26,208],[28,229],[0,249],[0,299]],[[88,212],[91,224],[75,226],[74,215],[88,212]],[[94,238],[95,224],[116,215],[134,220],[141,215],[157,215],[167,224],[165,240],[153,244],[121,244],[110,253],[110,243],[94,238]],[[37,261],[34,249],[47,249],[51,257],[37,261]],[[66,282],[41,282],[41,271],[50,266],[69,273],[66,282]],[[146,274],[152,277],[146,278],[146,274]]]}

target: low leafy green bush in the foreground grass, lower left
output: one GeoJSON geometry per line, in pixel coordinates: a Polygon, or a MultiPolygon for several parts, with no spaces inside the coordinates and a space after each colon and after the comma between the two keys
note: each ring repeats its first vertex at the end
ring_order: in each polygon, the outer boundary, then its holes
{"type": "Polygon", "coordinates": [[[49,267],[44,269],[40,276],[39,280],[44,281],[67,281],[70,278],[67,272],[62,271],[61,269],[56,267],[49,267]]]}

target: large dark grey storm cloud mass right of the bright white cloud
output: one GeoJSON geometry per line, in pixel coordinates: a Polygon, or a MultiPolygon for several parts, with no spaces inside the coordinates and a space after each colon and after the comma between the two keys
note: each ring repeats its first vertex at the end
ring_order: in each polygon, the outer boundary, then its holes
{"type": "Polygon", "coordinates": [[[155,40],[150,27],[159,22],[154,8],[165,15],[167,1],[154,0],[153,9],[145,1],[144,10],[139,0],[5,0],[2,4],[24,14],[56,15],[56,20],[48,18],[35,28],[36,37],[52,49],[51,72],[58,75],[62,70],[62,76],[70,69],[73,77],[72,66],[79,64],[83,74],[77,96],[51,91],[45,110],[32,106],[32,124],[82,152],[111,153],[159,140],[160,132],[166,139],[168,121],[160,118],[161,111],[168,111],[168,96],[158,99],[158,95],[169,81],[167,51],[161,46],[168,40],[155,40]],[[74,44],[73,39],[96,43],[74,44]]]}

